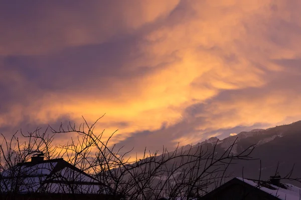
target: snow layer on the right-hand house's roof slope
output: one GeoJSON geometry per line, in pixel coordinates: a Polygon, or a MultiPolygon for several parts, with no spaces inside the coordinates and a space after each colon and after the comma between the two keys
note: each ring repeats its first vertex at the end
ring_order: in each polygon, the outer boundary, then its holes
{"type": "Polygon", "coordinates": [[[301,188],[294,186],[292,184],[282,183],[284,187],[286,187],[283,188],[270,183],[262,184],[262,182],[253,181],[242,177],[236,177],[236,178],[241,181],[244,181],[245,183],[248,183],[249,185],[257,187],[260,190],[265,191],[266,193],[276,196],[279,199],[299,200],[301,198],[300,197],[301,188]]]}

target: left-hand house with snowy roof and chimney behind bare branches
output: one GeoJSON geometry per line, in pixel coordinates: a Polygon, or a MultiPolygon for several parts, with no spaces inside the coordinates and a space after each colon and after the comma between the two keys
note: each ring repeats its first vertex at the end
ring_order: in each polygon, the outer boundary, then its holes
{"type": "Polygon", "coordinates": [[[44,160],[41,154],[2,171],[0,194],[17,199],[113,199],[93,176],[63,158],[44,160]]]}

